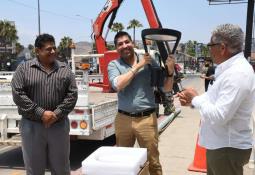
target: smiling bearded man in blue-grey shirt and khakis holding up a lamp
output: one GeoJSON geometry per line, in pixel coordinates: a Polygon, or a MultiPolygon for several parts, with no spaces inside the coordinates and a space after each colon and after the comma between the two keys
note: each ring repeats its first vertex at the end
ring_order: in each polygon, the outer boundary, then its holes
{"type": "MultiPolygon", "coordinates": [[[[155,97],[151,86],[151,67],[158,66],[149,54],[138,58],[134,44],[126,32],[118,32],[114,44],[120,58],[108,65],[109,80],[118,92],[118,113],[115,134],[118,146],[132,147],[137,139],[140,147],[147,148],[151,175],[162,175],[158,151],[158,129],[155,97]]],[[[163,90],[172,91],[174,59],[166,60],[168,76],[163,90]]]]}

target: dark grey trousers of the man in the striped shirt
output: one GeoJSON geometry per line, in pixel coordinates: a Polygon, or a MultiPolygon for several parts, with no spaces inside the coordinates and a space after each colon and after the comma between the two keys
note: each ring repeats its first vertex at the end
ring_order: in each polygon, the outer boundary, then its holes
{"type": "Polygon", "coordinates": [[[70,175],[69,120],[49,128],[40,122],[21,119],[22,152],[27,175],[44,175],[47,164],[52,175],[70,175]]]}

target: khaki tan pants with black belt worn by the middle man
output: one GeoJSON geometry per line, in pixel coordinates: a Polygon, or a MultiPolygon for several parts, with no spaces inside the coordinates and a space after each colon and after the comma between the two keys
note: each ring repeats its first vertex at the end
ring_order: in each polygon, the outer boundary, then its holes
{"type": "Polygon", "coordinates": [[[141,148],[147,148],[150,175],[162,175],[156,113],[137,118],[118,113],[115,119],[115,134],[117,146],[133,147],[137,139],[141,148]]]}

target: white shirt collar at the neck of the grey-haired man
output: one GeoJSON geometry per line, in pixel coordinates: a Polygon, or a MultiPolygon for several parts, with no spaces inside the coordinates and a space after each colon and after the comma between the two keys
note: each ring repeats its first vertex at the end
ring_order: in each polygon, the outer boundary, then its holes
{"type": "Polygon", "coordinates": [[[234,62],[240,57],[244,57],[243,52],[240,52],[240,53],[230,57],[223,63],[217,65],[217,67],[215,69],[215,78],[217,78],[220,74],[222,74],[224,71],[226,71],[228,68],[230,68],[234,64],[234,62]]]}

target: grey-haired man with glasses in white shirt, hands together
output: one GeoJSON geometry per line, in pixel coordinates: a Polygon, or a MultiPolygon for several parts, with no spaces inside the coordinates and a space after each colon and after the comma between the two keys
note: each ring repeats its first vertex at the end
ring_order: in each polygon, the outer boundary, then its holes
{"type": "Polygon", "coordinates": [[[239,26],[218,26],[208,44],[217,64],[214,84],[202,95],[192,88],[178,94],[182,105],[201,114],[199,144],[207,149],[207,175],[243,175],[251,154],[255,76],[243,42],[239,26]]]}

